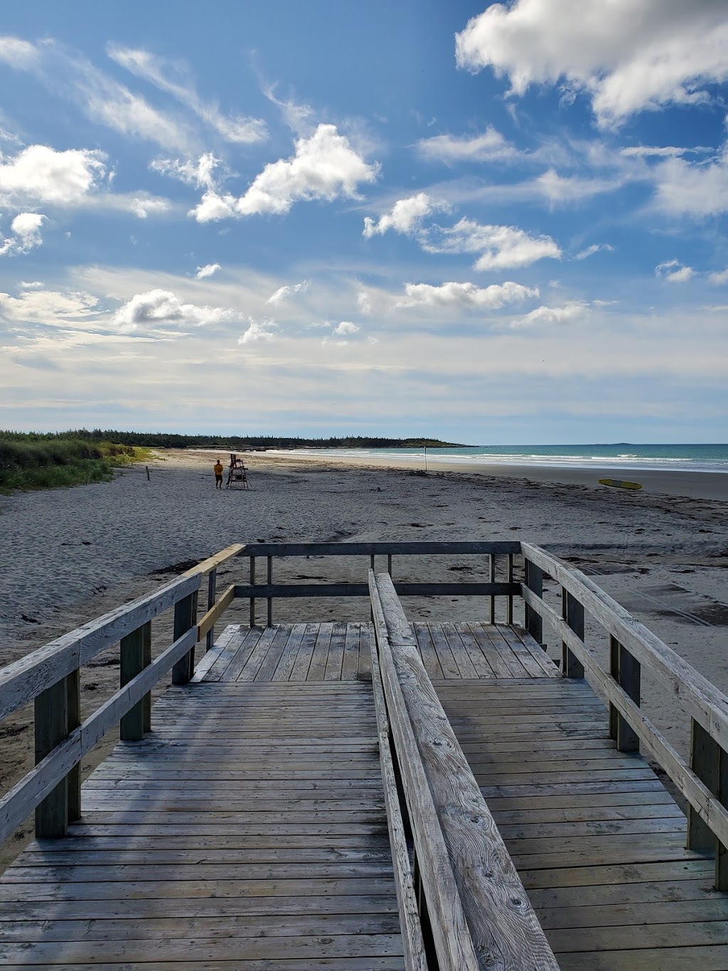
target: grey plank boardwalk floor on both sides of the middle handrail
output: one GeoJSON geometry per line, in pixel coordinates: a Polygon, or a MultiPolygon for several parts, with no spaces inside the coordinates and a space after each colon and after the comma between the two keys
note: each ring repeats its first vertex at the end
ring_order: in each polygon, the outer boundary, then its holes
{"type": "MultiPolygon", "coordinates": [[[[412,629],[562,971],[728,969],[713,864],[592,689],[522,627],[412,629]]],[[[370,636],[227,627],[0,880],[3,967],[404,968],[370,636]]]]}

